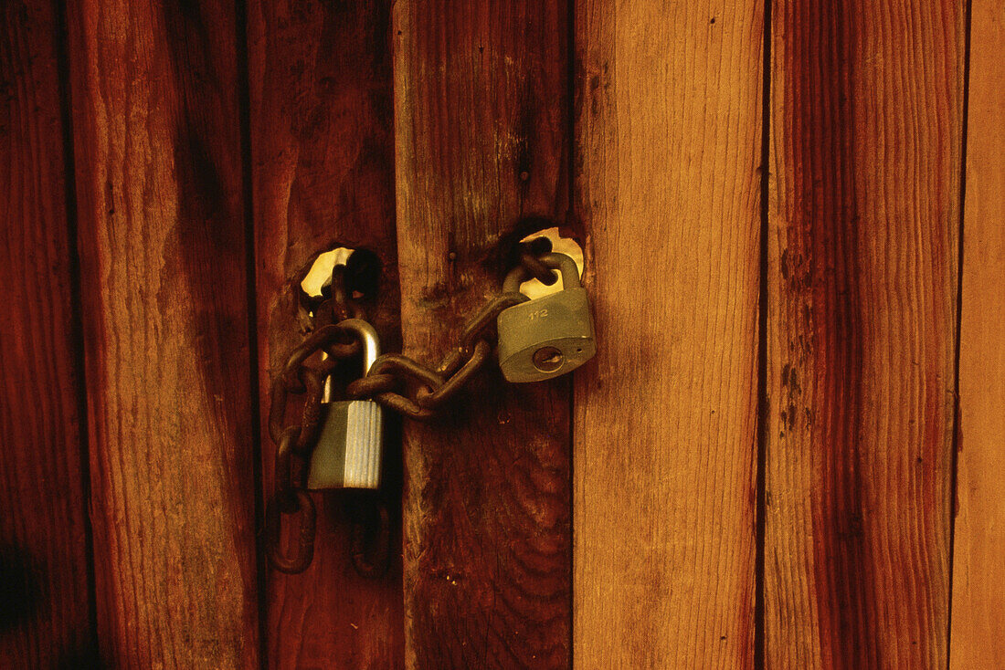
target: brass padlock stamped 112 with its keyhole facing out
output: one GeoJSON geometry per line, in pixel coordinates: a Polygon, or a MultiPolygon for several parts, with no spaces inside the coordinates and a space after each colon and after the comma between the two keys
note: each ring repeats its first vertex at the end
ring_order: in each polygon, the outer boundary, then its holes
{"type": "MultiPolygon", "coordinates": [[[[576,262],[562,253],[545,254],[540,260],[562,274],[562,290],[499,312],[499,368],[509,382],[559,377],[597,353],[590,302],[576,262]]],[[[527,278],[526,268],[518,266],[507,275],[502,290],[519,291],[527,278]]]]}

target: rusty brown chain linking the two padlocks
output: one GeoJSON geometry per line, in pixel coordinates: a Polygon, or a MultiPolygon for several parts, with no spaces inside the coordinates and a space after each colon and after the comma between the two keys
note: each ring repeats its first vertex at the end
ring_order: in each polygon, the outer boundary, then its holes
{"type": "MultiPolygon", "coordinates": [[[[554,272],[537,254],[550,250],[522,245],[520,260],[527,273],[545,284],[556,281],[554,272]]],[[[301,573],[314,556],[317,509],[307,490],[307,470],[324,421],[325,386],[340,363],[359,356],[361,343],[350,328],[340,325],[348,318],[364,318],[362,308],[347,294],[345,266],[336,266],[331,297],[314,308],[314,329],[286,358],[272,382],[268,434],[275,444],[274,489],[265,512],[265,540],[271,566],[287,574],[301,573]],[[320,359],[320,360],[319,360],[320,359]],[[291,395],[303,396],[299,421],[283,424],[291,395]],[[282,550],[282,518],[298,515],[295,549],[282,550]]],[[[377,358],[370,370],[346,389],[353,400],[374,400],[402,416],[428,421],[436,416],[491,357],[496,318],[504,309],[530,298],[520,292],[504,292],[489,300],[467,322],[458,344],[439,365],[429,368],[402,354],[377,358]]],[[[390,514],[370,493],[354,491],[347,501],[352,518],[350,553],[357,573],[380,577],[390,565],[390,514]],[[368,532],[368,528],[371,530],[368,532]]]]}

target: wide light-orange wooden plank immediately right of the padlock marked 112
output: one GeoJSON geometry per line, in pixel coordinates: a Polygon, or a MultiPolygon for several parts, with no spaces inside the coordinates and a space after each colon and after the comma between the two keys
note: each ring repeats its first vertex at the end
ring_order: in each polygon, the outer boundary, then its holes
{"type": "Polygon", "coordinates": [[[763,5],[576,5],[583,668],[751,667],[763,5]]]}

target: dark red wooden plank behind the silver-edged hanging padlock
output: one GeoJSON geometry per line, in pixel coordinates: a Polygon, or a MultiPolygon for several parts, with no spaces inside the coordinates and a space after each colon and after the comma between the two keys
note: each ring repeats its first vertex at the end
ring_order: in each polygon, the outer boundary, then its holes
{"type": "MultiPolygon", "coordinates": [[[[296,284],[316,254],[347,246],[380,256],[380,300],[367,305],[368,318],[385,349],[399,347],[391,6],[252,0],[248,9],[260,405],[266,420],[272,375],[301,338],[296,284]]],[[[262,429],[270,481],[274,447],[262,429]]],[[[389,450],[385,487],[397,518],[400,474],[391,468],[400,453],[393,445],[389,450]]],[[[268,666],[402,667],[400,552],[389,575],[358,576],[340,496],[315,495],[314,563],[301,575],[271,573],[268,579],[268,666]]],[[[400,537],[393,546],[400,546],[400,537]]]]}

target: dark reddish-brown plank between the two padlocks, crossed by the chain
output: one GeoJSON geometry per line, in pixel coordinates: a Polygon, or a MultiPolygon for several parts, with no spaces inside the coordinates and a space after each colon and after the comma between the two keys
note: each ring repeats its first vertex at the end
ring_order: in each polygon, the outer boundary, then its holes
{"type": "MultiPolygon", "coordinates": [[[[567,13],[395,4],[401,311],[420,360],[498,292],[521,217],[564,220],[567,13]]],[[[488,365],[440,422],[405,426],[407,667],[569,665],[569,396],[488,365]]]]}

